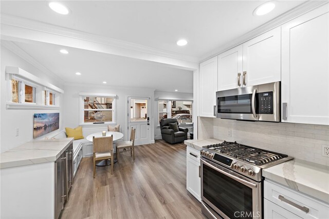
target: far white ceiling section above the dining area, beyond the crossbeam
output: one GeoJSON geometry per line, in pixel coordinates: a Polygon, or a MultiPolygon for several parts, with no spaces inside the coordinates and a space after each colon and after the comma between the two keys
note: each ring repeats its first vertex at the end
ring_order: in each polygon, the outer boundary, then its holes
{"type": "Polygon", "coordinates": [[[193,93],[192,71],[170,68],[141,59],[110,55],[53,44],[15,42],[67,84],[94,84],[152,88],[158,91],[193,93]],[[66,49],[68,54],[59,51],[66,49]],[[81,75],[76,75],[80,72],[81,75]]]}

